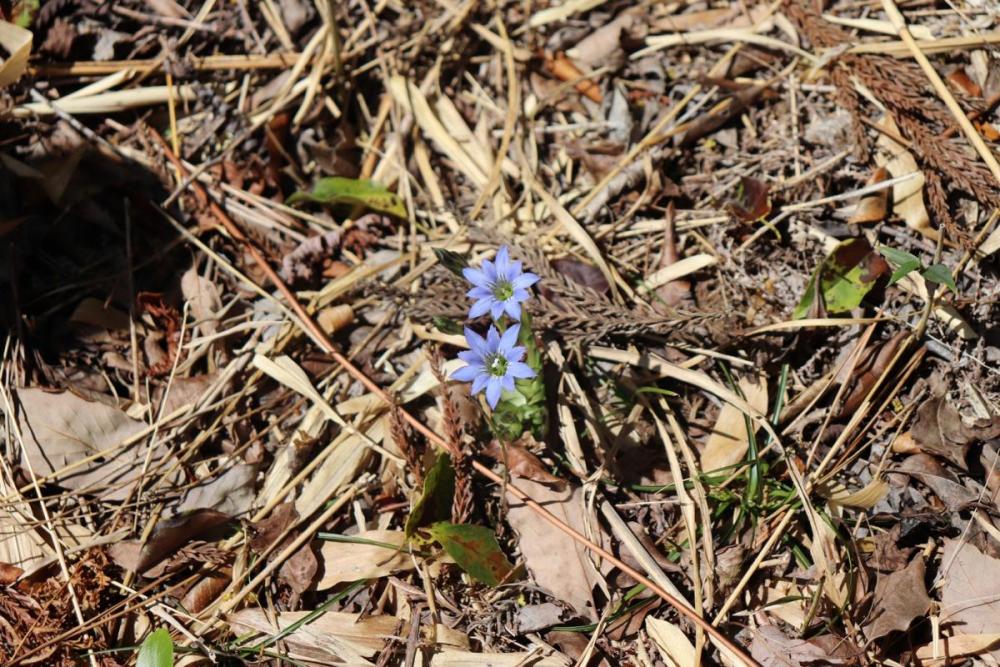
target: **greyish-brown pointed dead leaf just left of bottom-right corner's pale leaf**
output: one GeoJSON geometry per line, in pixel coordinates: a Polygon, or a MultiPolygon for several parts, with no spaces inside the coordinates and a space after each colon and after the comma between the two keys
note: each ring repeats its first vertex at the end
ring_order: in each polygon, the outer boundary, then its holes
{"type": "Polygon", "coordinates": [[[917,556],[906,569],[879,575],[870,620],[863,628],[869,640],[880,639],[890,632],[906,632],[913,619],[927,613],[931,599],[924,584],[925,573],[924,558],[917,556]]]}

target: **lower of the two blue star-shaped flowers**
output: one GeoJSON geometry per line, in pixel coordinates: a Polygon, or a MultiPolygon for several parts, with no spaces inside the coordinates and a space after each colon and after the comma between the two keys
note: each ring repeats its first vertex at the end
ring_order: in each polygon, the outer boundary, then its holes
{"type": "Polygon", "coordinates": [[[490,330],[484,340],[472,329],[465,328],[465,340],[470,350],[459,352],[459,358],[467,366],[451,374],[461,382],[472,383],[472,393],[486,390],[486,402],[495,408],[503,391],[514,391],[514,380],[535,377],[531,366],[524,359],[524,347],[517,344],[521,325],[515,324],[501,336],[496,327],[490,330]]]}

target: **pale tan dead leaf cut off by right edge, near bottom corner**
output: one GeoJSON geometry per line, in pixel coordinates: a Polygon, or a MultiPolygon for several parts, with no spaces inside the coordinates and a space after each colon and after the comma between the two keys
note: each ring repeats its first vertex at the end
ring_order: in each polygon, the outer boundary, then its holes
{"type": "MultiPolygon", "coordinates": [[[[1000,634],[1000,559],[962,539],[945,540],[939,578],[942,628],[962,635],[1000,634]]],[[[1000,659],[1000,649],[990,655],[1000,659]]]]}

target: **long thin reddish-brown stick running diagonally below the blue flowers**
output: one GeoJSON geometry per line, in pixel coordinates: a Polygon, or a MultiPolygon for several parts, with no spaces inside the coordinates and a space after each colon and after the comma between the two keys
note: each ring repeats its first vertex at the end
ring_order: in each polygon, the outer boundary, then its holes
{"type": "MultiPolygon", "coordinates": [[[[177,167],[178,171],[181,173],[181,177],[182,178],[186,177],[186,169],[184,168],[183,163],[180,161],[180,159],[178,159],[176,155],[174,155],[173,151],[170,150],[170,146],[167,144],[167,142],[163,139],[162,136],[160,136],[158,132],[156,132],[156,130],[150,128],[150,132],[159,142],[160,147],[163,149],[163,152],[167,156],[167,158],[169,158],[170,161],[174,164],[174,166],[177,167]]],[[[324,333],[323,330],[313,321],[309,313],[306,312],[306,309],[302,306],[301,303],[299,303],[299,300],[295,296],[295,293],[292,292],[291,289],[289,289],[288,285],[286,285],[285,282],[278,276],[277,272],[273,268],[271,268],[271,265],[267,262],[267,259],[265,259],[264,255],[261,254],[257,246],[254,245],[254,243],[249,238],[247,238],[247,236],[243,233],[243,231],[239,228],[239,226],[237,226],[237,224],[232,220],[232,218],[229,217],[229,215],[222,209],[222,207],[219,206],[219,204],[216,203],[214,199],[212,199],[206,194],[201,184],[198,183],[197,181],[192,181],[191,186],[194,189],[195,195],[198,197],[199,200],[201,201],[207,200],[209,210],[211,210],[212,214],[219,220],[219,222],[226,229],[229,235],[244,245],[247,252],[250,253],[250,256],[253,257],[254,261],[257,263],[260,269],[264,272],[265,275],[267,275],[268,279],[272,283],[274,283],[274,286],[278,288],[278,291],[280,291],[284,295],[284,297],[288,300],[288,305],[295,312],[295,315],[299,318],[300,325],[305,329],[305,331],[310,335],[310,337],[313,338],[320,345],[320,347],[323,348],[323,351],[329,354],[334,361],[340,364],[340,366],[343,367],[344,370],[346,370],[348,373],[350,373],[351,376],[353,376],[358,382],[363,384],[366,389],[368,389],[370,392],[372,392],[380,399],[385,401],[386,404],[390,406],[395,405],[392,397],[390,397],[381,387],[375,384],[375,382],[373,382],[371,378],[369,378],[354,364],[352,364],[350,360],[347,359],[347,357],[345,357],[339,351],[337,351],[337,348],[336,346],[334,346],[333,341],[331,341],[330,338],[326,335],[326,333],[324,333]]],[[[434,431],[432,431],[430,428],[424,425],[423,422],[421,422],[419,419],[411,415],[406,410],[400,408],[399,411],[402,417],[406,421],[408,421],[413,426],[413,428],[415,428],[425,438],[427,438],[428,441],[434,443],[437,447],[440,447],[445,451],[450,451],[448,443],[447,441],[444,440],[444,438],[439,436],[437,433],[434,433],[434,431]]],[[[476,470],[476,472],[483,475],[484,477],[494,482],[495,484],[500,484],[505,486],[508,492],[514,495],[518,500],[523,501],[525,505],[530,507],[535,513],[537,513],[542,519],[551,524],[553,527],[559,529],[560,531],[565,533],[567,536],[569,536],[576,542],[580,543],[581,545],[583,545],[590,551],[594,552],[601,558],[612,563],[619,570],[629,575],[630,577],[635,579],[637,582],[639,582],[649,590],[656,593],[656,595],[662,598],[664,602],[666,602],[674,609],[676,609],[678,613],[680,613],[682,616],[687,617],[692,623],[703,629],[708,634],[712,635],[712,637],[714,637],[728,651],[731,651],[735,656],[737,656],[741,661],[743,661],[745,665],[748,665],[748,667],[760,667],[759,663],[753,660],[753,658],[751,658],[750,656],[746,655],[746,653],[744,653],[744,651],[739,646],[737,646],[736,643],[734,643],[728,637],[719,632],[719,630],[716,629],[715,626],[713,626],[707,620],[699,616],[693,609],[689,608],[687,605],[685,605],[676,597],[668,593],[666,590],[664,590],[661,586],[657,585],[651,579],[640,573],[635,568],[632,568],[629,565],[622,562],[610,551],[604,549],[600,545],[595,544],[594,542],[587,539],[586,536],[576,531],[571,526],[567,525],[558,517],[556,517],[554,514],[549,512],[547,509],[545,509],[537,502],[532,500],[527,493],[520,490],[516,486],[512,485],[509,481],[505,481],[499,475],[497,475],[495,472],[490,470],[482,463],[479,463],[478,461],[474,460],[472,461],[472,467],[476,470]]]]}

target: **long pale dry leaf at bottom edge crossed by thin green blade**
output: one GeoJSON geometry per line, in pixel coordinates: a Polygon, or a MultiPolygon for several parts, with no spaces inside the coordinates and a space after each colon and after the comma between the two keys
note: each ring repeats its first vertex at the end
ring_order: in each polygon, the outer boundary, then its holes
{"type": "MultiPolygon", "coordinates": [[[[237,634],[247,631],[273,636],[299,623],[311,611],[286,611],[271,614],[259,607],[241,609],[226,617],[237,634]]],[[[300,660],[334,661],[334,664],[367,665],[366,658],[382,650],[385,641],[397,633],[392,616],[366,616],[327,611],[313,621],[300,625],[285,636],[288,656],[300,660]]]]}

